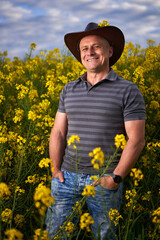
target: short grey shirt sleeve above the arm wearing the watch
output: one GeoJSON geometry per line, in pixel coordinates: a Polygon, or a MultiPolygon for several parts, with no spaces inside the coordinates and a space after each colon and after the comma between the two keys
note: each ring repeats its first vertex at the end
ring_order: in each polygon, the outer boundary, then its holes
{"type": "Polygon", "coordinates": [[[134,83],[126,89],[123,107],[124,121],[146,119],[144,98],[134,83]]]}

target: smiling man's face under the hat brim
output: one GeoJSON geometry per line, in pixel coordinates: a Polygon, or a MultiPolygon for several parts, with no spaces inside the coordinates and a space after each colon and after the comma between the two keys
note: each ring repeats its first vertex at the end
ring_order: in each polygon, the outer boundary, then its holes
{"type": "Polygon", "coordinates": [[[113,48],[108,41],[96,35],[82,38],[80,41],[81,62],[87,71],[103,72],[109,67],[109,58],[113,48]]]}

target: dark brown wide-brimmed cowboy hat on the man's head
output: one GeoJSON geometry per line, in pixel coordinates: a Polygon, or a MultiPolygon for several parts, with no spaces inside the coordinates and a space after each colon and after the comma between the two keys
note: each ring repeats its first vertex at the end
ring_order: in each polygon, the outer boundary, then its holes
{"type": "Polygon", "coordinates": [[[124,35],[122,31],[115,26],[99,27],[97,23],[91,22],[87,25],[84,31],[67,33],[64,36],[64,41],[71,53],[81,62],[79,51],[80,40],[88,35],[98,35],[105,38],[113,47],[113,55],[110,58],[110,66],[115,64],[120,58],[124,48],[124,35]]]}

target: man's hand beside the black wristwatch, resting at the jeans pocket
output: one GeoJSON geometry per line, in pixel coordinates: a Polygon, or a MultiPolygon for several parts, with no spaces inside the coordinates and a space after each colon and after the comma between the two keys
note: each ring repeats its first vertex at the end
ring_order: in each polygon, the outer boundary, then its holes
{"type": "Polygon", "coordinates": [[[101,185],[106,189],[115,190],[119,187],[119,184],[115,183],[111,176],[101,177],[98,182],[93,183],[94,186],[101,185]]]}

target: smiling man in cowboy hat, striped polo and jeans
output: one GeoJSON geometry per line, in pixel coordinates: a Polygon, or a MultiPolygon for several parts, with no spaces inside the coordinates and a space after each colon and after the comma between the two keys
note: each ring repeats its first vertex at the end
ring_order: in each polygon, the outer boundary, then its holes
{"type": "Polygon", "coordinates": [[[133,82],[111,69],[124,48],[124,35],[119,28],[89,23],[85,31],[66,34],[65,43],[86,73],[64,87],[50,135],[55,204],[47,212],[47,230],[53,237],[81,198],[85,185],[92,184],[90,177],[98,174],[93,170],[89,152],[101,147],[105,156],[112,156],[115,136],[124,134],[128,140],[121,156],[115,156],[107,174],[96,184],[95,197],[87,199],[95,221],[92,225],[95,238],[98,239],[100,228],[101,239],[111,240],[115,239],[116,229],[109,221],[108,212],[111,208],[120,209],[122,180],[145,145],[144,100],[133,82]],[[80,138],[77,151],[72,146],[66,147],[66,139],[72,135],[80,138]]]}

